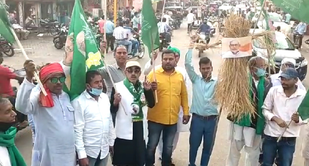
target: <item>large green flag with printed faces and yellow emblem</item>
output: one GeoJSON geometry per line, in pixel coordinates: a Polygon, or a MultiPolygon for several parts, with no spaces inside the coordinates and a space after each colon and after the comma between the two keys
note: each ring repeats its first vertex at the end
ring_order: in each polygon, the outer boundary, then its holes
{"type": "Polygon", "coordinates": [[[75,0],[65,46],[66,57],[71,57],[72,63],[64,91],[71,100],[85,91],[87,70],[97,70],[104,66],[95,37],[86,20],[81,2],[75,0]]]}

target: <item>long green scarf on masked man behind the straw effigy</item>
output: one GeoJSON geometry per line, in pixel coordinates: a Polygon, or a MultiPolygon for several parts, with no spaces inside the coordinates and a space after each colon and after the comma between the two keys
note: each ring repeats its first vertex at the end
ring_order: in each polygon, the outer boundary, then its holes
{"type": "MultiPolygon", "coordinates": [[[[256,134],[261,135],[263,134],[264,130],[264,122],[265,118],[262,114],[262,106],[264,103],[264,83],[265,83],[265,77],[262,76],[259,78],[259,83],[257,84],[257,123],[256,123],[256,134]]],[[[253,97],[253,91],[252,91],[252,75],[249,76],[249,85],[250,85],[250,97],[251,100],[254,101],[253,97]]],[[[242,119],[240,121],[235,121],[235,124],[239,126],[251,126],[251,116],[250,115],[243,115],[242,119]]]]}

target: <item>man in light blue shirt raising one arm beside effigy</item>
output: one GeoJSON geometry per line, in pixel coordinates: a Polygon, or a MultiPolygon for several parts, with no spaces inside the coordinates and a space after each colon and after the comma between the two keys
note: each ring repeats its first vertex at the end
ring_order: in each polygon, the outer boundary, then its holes
{"type": "Polygon", "coordinates": [[[214,103],[213,96],[217,79],[212,74],[213,66],[208,57],[200,59],[200,72],[198,75],[192,65],[192,52],[194,44],[190,44],[185,58],[185,68],[192,82],[193,98],[190,113],[192,113],[189,137],[189,166],[196,166],[197,150],[203,138],[201,166],[207,166],[213,148],[213,135],[218,117],[218,105],[214,103]]]}

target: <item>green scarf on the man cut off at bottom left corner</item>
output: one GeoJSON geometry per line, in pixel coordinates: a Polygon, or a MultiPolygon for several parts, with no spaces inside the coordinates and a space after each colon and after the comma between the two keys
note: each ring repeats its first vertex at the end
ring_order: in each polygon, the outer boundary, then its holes
{"type": "Polygon", "coordinates": [[[16,132],[17,129],[11,127],[6,132],[0,133],[0,146],[6,147],[9,151],[12,166],[27,166],[14,143],[16,132]]]}

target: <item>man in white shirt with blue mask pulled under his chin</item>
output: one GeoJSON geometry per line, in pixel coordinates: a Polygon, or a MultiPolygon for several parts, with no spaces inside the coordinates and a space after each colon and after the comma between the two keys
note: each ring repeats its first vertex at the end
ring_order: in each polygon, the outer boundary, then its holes
{"type": "Polygon", "coordinates": [[[109,98],[98,71],[86,73],[86,90],[72,101],[75,148],[80,166],[106,166],[116,139],[109,98]]]}

